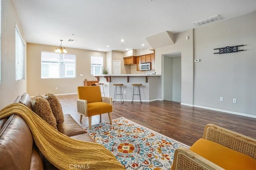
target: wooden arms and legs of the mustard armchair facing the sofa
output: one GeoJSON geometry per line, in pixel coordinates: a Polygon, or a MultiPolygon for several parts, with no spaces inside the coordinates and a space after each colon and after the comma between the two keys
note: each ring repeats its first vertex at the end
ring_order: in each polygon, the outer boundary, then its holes
{"type": "MultiPolygon", "coordinates": [[[[112,97],[101,97],[102,102],[112,105],[112,97]]],[[[80,114],[80,122],[82,121],[82,117],[88,117],[89,129],[92,127],[92,116],[88,116],[88,109],[87,109],[87,100],[77,99],[77,112],[80,114]]],[[[100,114],[101,117],[101,114],[100,114]]],[[[110,124],[112,125],[112,118],[111,112],[108,113],[108,118],[110,124]]]]}

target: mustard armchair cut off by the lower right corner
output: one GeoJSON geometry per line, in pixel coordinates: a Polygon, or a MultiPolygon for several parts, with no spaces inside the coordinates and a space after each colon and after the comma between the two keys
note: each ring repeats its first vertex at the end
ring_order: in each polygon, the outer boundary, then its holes
{"type": "Polygon", "coordinates": [[[172,170],[256,170],[256,140],[208,124],[190,149],[174,152],[172,170]]]}

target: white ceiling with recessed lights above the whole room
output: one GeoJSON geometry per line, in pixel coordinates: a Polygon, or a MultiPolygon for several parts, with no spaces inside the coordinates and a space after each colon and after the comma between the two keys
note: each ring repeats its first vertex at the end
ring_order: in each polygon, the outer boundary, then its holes
{"type": "Polygon", "coordinates": [[[59,40],[63,39],[62,46],[66,48],[95,51],[142,49],[148,47],[145,38],[151,35],[193,29],[196,28],[193,22],[218,14],[227,20],[256,11],[256,0],[13,2],[28,43],[59,46],[59,40]]]}

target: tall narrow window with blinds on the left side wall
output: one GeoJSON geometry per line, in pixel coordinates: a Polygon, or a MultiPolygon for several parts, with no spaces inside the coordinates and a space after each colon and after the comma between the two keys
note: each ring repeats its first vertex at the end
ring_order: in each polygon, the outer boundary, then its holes
{"type": "Polygon", "coordinates": [[[15,31],[15,72],[16,80],[25,79],[25,45],[17,27],[15,31]]]}

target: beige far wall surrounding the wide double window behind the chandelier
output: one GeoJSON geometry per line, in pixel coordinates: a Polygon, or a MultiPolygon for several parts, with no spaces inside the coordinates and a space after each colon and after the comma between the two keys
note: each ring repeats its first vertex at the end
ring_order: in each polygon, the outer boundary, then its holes
{"type": "MultiPolygon", "coordinates": [[[[76,54],[76,78],[41,79],[41,51],[54,51],[55,46],[31,44],[27,45],[28,51],[28,94],[53,94],[76,93],[77,86],[83,86],[83,81],[96,80],[90,75],[90,57],[102,56],[106,62],[106,53],[82,49],[66,48],[68,53],[76,54]],[[83,76],[80,76],[83,74],[83,76]],[[58,87],[58,90],[55,88],[58,87]]],[[[105,66],[105,64],[104,64],[105,66]]]]}

